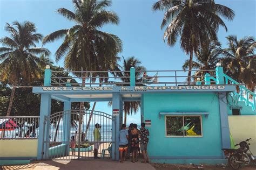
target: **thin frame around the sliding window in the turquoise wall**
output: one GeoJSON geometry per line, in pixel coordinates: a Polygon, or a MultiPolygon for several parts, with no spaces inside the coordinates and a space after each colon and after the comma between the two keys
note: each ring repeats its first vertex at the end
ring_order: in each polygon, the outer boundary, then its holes
{"type": "Polygon", "coordinates": [[[203,123],[201,115],[165,115],[165,137],[166,138],[203,138],[203,123]],[[201,125],[201,136],[185,136],[185,131],[183,129],[183,136],[167,136],[167,126],[166,126],[166,117],[183,117],[183,127],[184,127],[184,117],[200,117],[200,125],[201,125]]]}

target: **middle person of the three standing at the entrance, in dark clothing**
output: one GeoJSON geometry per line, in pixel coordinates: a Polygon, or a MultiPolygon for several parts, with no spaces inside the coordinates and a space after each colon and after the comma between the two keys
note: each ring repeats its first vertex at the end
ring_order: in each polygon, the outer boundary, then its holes
{"type": "Polygon", "coordinates": [[[136,125],[132,125],[131,129],[131,151],[132,151],[132,162],[137,162],[137,154],[139,150],[139,130],[135,128],[136,125]]]}

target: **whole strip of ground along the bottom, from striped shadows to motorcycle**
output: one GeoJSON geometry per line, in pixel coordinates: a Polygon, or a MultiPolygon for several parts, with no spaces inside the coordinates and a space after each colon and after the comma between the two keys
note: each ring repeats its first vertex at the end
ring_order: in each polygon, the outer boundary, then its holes
{"type": "MultiPolygon", "coordinates": [[[[44,160],[44,161],[35,161],[31,164],[26,165],[15,165],[15,166],[3,166],[0,169],[40,169],[40,170],[57,170],[57,169],[122,169],[122,170],[193,170],[193,169],[207,169],[207,170],[223,170],[231,169],[224,164],[221,165],[180,165],[180,164],[143,164],[139,159],[138,162],[132,163],[130,159],[126,160],[123,164],[119,161],[113,160],[44,160]]],[[[242,166],[241,170],[256,170],[256,166],[242,166]]]]}

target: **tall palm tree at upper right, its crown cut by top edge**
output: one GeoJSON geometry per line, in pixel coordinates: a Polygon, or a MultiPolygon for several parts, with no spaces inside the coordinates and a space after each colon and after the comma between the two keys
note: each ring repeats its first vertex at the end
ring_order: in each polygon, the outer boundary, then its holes
{"type": "Polygon", "coordinates": [[[159,0],[153,4],[152,9],[165,11],[161,29],[167,25],[164,32],[167,44],[174,46],[180,37],[180,47],[186,54],[190,54],[188,82],[191,81],[193,52],[205,41],[217,41],[219,26],[223,26],[227,31],[220,16],[228,20],[234,18],[233,10],[216,4],[214,0],[159,0]]]}

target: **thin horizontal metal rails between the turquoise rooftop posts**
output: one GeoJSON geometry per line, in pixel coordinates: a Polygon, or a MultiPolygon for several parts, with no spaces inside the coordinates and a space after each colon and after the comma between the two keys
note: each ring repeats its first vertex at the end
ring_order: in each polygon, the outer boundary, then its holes
{"type": "MultiPolygon", "coordinates": [[[[136,71],[134,72],[135,76],[132,77],[130,70],[102,72],[52,71],[51,86],[129,86],[131,79],[135,79],[136,86],[147,84],[179,86],[186,84],[196,85],[198,84],[197,82],[204,84],[206,73],[211,73],[213,78],[216,77],[214,75],[215,70],[191,70],[191,72],[191,76],[188,76],[188,70],[146,70],[145,72],[136,71]],[[68,73],[70,76],[59,76],[59,73],[68,73]],[[190,77],[191,82],[188,81],[188,77],[190,77]],[[73,80],[76,80],[76,82],[73,80]]],[[[208,83],[213,84],[215,81],[211,80],[208,83]]]]}

